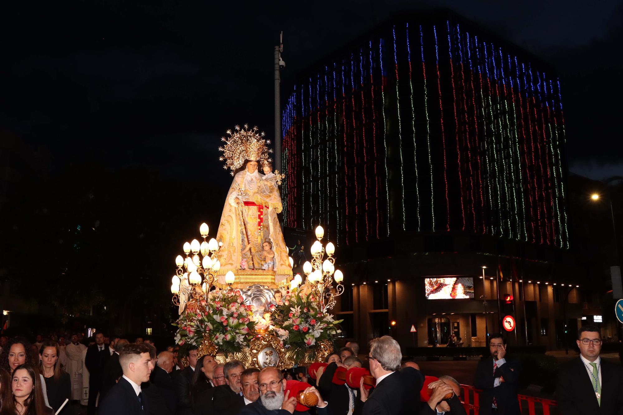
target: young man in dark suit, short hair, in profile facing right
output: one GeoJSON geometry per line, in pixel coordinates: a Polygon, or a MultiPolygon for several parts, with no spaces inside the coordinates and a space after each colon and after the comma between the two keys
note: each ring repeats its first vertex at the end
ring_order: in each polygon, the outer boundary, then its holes
{"type": "Polygon", "coordinates": [[[130,343],[119,354],[123,376],[100,403],[100,415],[148,415],[141,383],[150,379],[151,358],[145,345],[130,343]]]}

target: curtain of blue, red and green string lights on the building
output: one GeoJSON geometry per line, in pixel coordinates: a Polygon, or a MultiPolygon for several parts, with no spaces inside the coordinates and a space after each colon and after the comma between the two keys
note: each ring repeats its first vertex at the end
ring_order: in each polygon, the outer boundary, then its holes
{"type": "Polygon", "coordinates": [[[560,83],[452,20],[400,22],[295,85],[283,111],[285,226],[338,245],[392,232],[569,248],[560,83]]]}

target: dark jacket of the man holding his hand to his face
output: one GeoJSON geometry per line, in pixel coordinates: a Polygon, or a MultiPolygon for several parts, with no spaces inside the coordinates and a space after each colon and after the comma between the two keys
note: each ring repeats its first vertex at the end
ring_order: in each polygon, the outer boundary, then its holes
{"type": "MultiPolygon", "coordinates": [[[[498,366],[493,373],[493,358],[488,357],[478,362],[473,386],[482,389],[480,393],[480,415],[488,415],[492,411],[493,397],[500,415],[520,415],[521,409],[517,399],[517,384],[521,377],[521,363],[513,358],[505,357],[506,363],[498,366]],[[500,386],[493,386],[495,378],[503,377],[500,386]]],[[[566,415],[566,414],[565,414],[566,415]]]]}

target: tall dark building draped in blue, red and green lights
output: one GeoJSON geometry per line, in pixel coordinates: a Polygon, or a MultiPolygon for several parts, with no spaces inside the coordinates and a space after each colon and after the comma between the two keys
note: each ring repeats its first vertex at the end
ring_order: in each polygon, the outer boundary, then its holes
{"type": "Polygon", "coordinates": [[[510,315],[512,343],[560,348],[599,310],[545,62],[451,14],[401,16],[302,74],[282,119],[283,221],[337,242],[345,336],[478,346],[510,315]]]}

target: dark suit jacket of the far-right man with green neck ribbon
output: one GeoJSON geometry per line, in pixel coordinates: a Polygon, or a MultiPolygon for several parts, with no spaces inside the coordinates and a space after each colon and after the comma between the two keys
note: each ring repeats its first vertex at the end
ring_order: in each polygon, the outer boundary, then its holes
{"type": "Polygon", "coordinates": [[[600,371],[601,405],[597,403],[595,384],[579,357],[561,367],[556,391],[561,414],[623,414],[623,369],[601,359],[600,371]]]}

